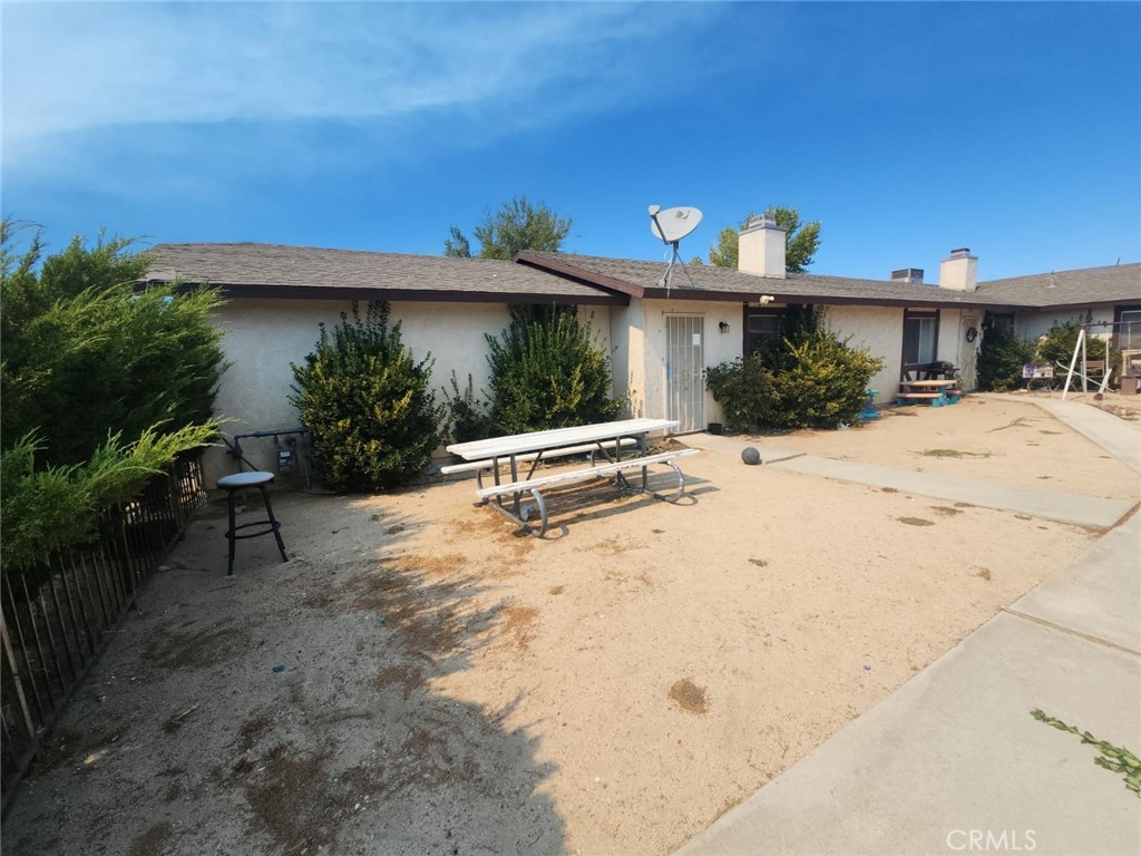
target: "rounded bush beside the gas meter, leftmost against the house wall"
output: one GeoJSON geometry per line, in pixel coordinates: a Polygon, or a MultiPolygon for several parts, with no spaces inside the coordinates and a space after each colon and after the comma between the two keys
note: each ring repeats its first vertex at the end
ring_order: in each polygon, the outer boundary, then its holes
{"type": "Polygon", "coordinates": [[[443,407],[429,389],[431,355],[416,362],[400,341],[389,306],[370,304],[330,332],[316,350],[291,364],[290,402],[309,429],[314,463],[334,491],[379,491],[414,478],[440,443],[443,407]]]}

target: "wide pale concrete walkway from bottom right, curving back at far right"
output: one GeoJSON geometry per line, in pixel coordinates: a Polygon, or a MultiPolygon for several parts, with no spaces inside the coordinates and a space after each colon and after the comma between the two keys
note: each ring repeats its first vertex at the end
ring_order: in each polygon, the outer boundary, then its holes
{"type": "MultiPolygon", "coordinates": [[[[1127,458],[1141,436],[1100,411],[1086,419],[1076,410],[1086,405],[1049,404],[1111,454],[1127,458]]],[[[1033,719],[1035,708],[1141,752],[1141,514],[679,856],[1141,853],[1141,799],[1093,764],[1094,746],[1033,719]]]]}

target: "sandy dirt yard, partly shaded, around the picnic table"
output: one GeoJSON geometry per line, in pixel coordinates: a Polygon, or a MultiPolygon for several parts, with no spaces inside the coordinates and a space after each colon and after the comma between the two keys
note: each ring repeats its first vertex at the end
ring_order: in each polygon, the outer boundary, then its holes
{"type": "MultiPolygon", "coordinates": [[[[758,442],[1141,499],[1020,401],[758,442]]],[[[245,541],[232,579],[216,498],[47,740],[5,853],[667,854],[1100,534],[683,465],[675,504],[552,494],[544,541],[471,481],[278,491],[291,560],[245,541]]]]}

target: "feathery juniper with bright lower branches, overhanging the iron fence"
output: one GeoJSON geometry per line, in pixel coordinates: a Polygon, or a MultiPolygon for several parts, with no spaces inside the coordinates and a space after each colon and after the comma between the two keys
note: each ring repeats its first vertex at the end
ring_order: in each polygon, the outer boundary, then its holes
{"type": "Polygon", "coordinates": [[[136,293],[149,259],[129,239],[75,237],[42,259],[39,234],[17,251],[16,232],[0,221],[6,576],[90,543],[106,510],[208,445],[224,371],[216,291],[136,293]]]}

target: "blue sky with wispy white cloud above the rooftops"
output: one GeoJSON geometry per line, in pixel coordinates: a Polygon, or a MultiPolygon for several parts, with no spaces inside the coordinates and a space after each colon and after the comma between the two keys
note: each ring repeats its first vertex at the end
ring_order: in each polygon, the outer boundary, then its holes
{"type": "Polygon", "coordinates": [[[517,195],[665,258],[646,207],[823,223],[811,270],[1141,260],[1141,5],[2,6],[0,205],[52,248],[438,255],[517,195]]]}

